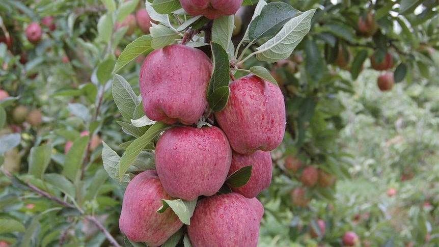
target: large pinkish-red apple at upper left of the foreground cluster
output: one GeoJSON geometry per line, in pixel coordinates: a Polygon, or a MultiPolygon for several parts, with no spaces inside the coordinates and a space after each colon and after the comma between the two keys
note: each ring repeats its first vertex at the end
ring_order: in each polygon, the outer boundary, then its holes
{"type": "Polygon", "coordinates": [[[145,115],[153,121],[197,122],[207,106],[212,63],[204,52],[181,44],[148,54],[140,72],[145,115]]]}

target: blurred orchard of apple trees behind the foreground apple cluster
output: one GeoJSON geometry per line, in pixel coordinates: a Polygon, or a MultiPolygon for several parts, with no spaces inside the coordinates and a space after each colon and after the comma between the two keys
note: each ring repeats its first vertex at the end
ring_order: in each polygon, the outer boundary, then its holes
{"type": "MultiPolygon", "coordinates": [[[[286,105],[271,184],[258,195],[258,245],[343,246],[351,231],[358,246],[438,246],[439,3],[285,3],[316,9],[309,33],[285,60],[237,65],[266,68],[286,105]],[[378,87],[385,71],[393,75],[378,87]]],[[[251,4],[233,18],[235,47],[251,4]]],[[[0,246],[129,246],[118,226],[125,187],[116,163],[147,130],[124,116],[121,99],[139,95],[152,46],[187,34],[156,28],[148,38],[133,25],[141,9],[136,0],[0,3],[0,246]]],[[[208,26],[188,24],[197,21],[208,26]]],[[[143,158],[128,172],[150,169],[143,158]]]]}

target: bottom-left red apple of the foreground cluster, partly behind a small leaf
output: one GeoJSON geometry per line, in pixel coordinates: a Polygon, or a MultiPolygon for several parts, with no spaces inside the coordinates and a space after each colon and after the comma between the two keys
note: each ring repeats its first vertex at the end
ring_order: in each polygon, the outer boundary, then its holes
{"type": "Polygon", "coordinates": [[[156,247],[177,232],[183,223],[171,209],[156,212],[161,199],[173,200],[163,189],[155,171],[135,176],[126,187],[119,218],[121,232],[133,242],[156,247]]]}

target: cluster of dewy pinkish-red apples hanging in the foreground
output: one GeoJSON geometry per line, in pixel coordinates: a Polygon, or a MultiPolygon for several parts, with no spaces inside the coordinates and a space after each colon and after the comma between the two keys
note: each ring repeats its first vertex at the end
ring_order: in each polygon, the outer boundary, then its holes
{"type": "Polygon", "coordinates": [[[165,242],[183,223],[170,209],[156,212],[160,199],[182,199],[198,200],[187,226],[193,246],[257,245],[264,208],[255,197],[271,181],[269,151],[284,136],[284,98],[279,87],[251,74],[232,81],[225,108],[210,114],[212,67],[204,52],[183,44],[152,51],[142,65],[145,115],[172,127],[156,143],[156,170],[136,175],[127,186],[119,224],[130,241],[165,242]],[[199,124],[206,118],[213,124],[199,124]],[[245,185],[227,183],[248,166],[245,185]],[[231,192],[219,193],[225,184],[231,192]]]}

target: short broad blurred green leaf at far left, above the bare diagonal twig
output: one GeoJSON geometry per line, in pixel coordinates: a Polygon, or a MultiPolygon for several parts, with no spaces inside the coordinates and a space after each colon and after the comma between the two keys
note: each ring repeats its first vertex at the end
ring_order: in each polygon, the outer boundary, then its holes
{"type": "Polygon", "coordinates": [[[49,144],[31,148],[28,173],[36,178],[42,178],[44,171],[46,171],[49,165],[51,155],[52,146],[49,144]]]}

